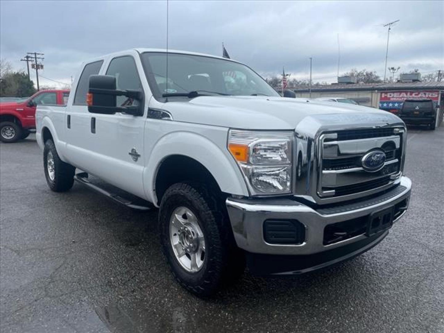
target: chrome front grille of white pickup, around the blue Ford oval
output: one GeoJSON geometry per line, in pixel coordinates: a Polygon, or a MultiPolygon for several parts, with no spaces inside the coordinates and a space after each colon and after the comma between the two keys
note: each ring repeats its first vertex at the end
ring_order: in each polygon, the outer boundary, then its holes
{"type": "Polygon", "coordinates": [[[324,133],[319,139],[317,194],[322,198],[356,198],[389,187],[402,173],[404,128],[384,127],[324,133]],[[369,151],[385,152],[381,170],[366,171],[369,151]]]}

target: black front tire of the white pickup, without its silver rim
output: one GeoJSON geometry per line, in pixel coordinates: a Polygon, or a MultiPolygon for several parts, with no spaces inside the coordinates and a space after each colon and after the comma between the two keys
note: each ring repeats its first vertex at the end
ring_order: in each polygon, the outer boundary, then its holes
{"type": "Polygon", "coordinates": [[[170,270],[179,284],[200,297],[214,294],[245,270],[245,256],[234,242],[225,201],[218,193],[202,184],[182,182],[170,186],[160,204],[160,238],[170,270]],[[170,218],[182,206],[197,217],[205,237],[205,260],[198,272],[181,266],[170,241],[170,218]]]}

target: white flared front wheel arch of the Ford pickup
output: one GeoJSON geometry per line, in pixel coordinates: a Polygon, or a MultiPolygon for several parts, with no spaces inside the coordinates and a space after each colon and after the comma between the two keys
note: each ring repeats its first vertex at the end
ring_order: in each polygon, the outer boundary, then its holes
{"type": "MultiPolygon", "coordinates": [[[[225,143],[226,144],[226,135],[225,143]]],[[[157,202],[155,180],[163,160],[170,155],[184,155],[201,163],[213,175],[222,192],[248,196],[248,189],[237,163],[227,149],[192,132],[178,131],[163,136],[153,147],[143,171],[147,198],[157,202]]]]}

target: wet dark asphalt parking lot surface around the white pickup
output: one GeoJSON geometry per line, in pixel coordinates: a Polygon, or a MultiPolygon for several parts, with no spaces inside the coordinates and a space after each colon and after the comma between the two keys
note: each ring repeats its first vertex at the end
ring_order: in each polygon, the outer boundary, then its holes
{"type": "Polygon", "coordinates": [[[34,135],[0,150],[3,333],[444,331],[444,127],[409,130],[410,209],[379,246],[304,276],[246,273],[210,300],[174,281],[156,211],[53,193],[34,135]]]}

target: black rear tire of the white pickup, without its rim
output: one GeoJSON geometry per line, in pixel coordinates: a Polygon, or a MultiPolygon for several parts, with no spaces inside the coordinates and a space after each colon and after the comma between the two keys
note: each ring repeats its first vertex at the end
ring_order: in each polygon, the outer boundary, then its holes
{"type": "Polygon", "coordinates": [[[48,186],[54,192],[65,192],[70,190],[74,184],[75,167],[71,164],[64,163],[57,154],[56,146],[51,139],[45,142],[43,150],[43,166],[45,171],[46,182],[48,186]],[[53,170],[52,177],[48,171],[48,155],[52,154],[53,158],[53,170]]]}

